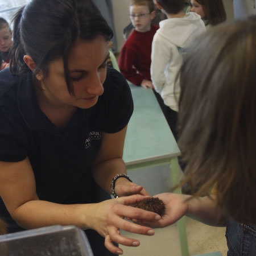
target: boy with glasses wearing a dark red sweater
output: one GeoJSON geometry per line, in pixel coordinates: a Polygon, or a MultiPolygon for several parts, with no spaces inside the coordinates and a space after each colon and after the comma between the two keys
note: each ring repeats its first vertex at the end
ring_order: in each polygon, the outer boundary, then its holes
{"type": "Polygon", "coordinates": [[[118,65],[125,78],[135,85],[153,88],[150,78],[151,44],[158,26],[152,0],[131,0],[130,18],[134,31],[121,49],[118,65]]]}

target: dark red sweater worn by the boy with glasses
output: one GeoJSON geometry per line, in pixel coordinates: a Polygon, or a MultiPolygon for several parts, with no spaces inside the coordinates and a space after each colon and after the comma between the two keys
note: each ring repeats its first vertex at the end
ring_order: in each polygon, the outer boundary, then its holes
{"type": "Polygon", "coordinates": [[[125,78],[135,85],[150,79],[151,44],[158,26],[147,32],[134,30],[121,49],[118,65],[125,78]]]}

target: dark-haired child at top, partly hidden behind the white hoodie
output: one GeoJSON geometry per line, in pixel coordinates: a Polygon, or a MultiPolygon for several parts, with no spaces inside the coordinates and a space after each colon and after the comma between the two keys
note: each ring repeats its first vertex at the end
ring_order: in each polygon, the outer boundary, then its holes
{"type": "Polygon", "coordinates": [[[226,20],[222,0],[191,0],[191,5],[191,11],[201,16],[205,26],[215,26],[226,20]]]}

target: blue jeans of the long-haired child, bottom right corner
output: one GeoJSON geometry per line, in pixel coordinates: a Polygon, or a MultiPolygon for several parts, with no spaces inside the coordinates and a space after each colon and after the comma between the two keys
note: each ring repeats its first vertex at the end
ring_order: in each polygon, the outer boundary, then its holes
{"type": "Polygon", "coordinates": [[[256,226],[230,221],[226,228],[228,256],[256,255],[256,226]]]}

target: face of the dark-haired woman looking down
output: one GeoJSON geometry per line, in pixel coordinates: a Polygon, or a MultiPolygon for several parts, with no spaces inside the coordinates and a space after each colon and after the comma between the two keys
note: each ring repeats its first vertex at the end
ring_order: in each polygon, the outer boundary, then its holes
{"type": "Polygon", "coordinates": [[[104,92],[102,84],[106,79],[108,56],[108,45],[103,36],[97,36],[91,42],[76,40],[68,57],[73,94],[68,92],[61,57],[49,64],[46,79],[39,80],[38,97],[57,108],[91,108],[104,92]]]}

